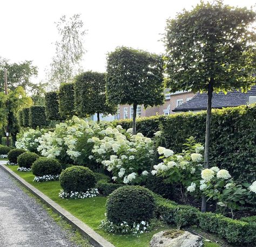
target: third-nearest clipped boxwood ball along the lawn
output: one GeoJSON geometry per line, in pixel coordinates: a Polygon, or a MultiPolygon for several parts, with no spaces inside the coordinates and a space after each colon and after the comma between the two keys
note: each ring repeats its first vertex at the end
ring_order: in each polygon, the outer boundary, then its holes
{"type": "Polygon", "coordinates": [[[32,164],[31,169],[33,175],[42,177],[44,175],[59,175],[62,171],[62,166],[56,159],[39,157],[32,164]]]}

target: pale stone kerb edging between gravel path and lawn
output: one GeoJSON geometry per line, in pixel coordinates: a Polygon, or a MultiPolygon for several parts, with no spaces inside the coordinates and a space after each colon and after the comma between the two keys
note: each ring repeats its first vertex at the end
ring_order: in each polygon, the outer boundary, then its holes
{"type": "Polygon", "coordinates": [[[44,195],[40,190],[33,187],[30,183],[19,177],[14,171],[6,167],[3,163],[0,163],[0,167],[14,177],[19,183],[21,183],[26,189],[31,191],[32,194],[36,195],[42,202],[47,204],[53,211],[58,215],[62,216],[68,223],[75,227],[82,235],[89,238],[89,241],[96,247],[114,247],[109,241],[97,234],[96,231],[92,230],[88,225],[80,221],[77,217],[73,216],[60,207],[59,204],[53,202],[48,196],[44,195]]]}

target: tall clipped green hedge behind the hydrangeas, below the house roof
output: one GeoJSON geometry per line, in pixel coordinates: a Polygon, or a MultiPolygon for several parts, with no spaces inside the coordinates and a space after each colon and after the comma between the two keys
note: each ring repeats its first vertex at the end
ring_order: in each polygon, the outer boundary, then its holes
{"type": "MultiPolygon", "coordinates": [[[[252,182],[256,177],[256,105],[213,109],[210,161],[212,166],[228,169],[239,182],[252,182]]],[[[114,125],[131,127],[131,120],[114,125]]],[[[194,136],[205,142],[206,112],[153,116],[138,120],[138,132],[151,137],[161,129],[165,146],[181,152],[186,138],[194,136]]]]}

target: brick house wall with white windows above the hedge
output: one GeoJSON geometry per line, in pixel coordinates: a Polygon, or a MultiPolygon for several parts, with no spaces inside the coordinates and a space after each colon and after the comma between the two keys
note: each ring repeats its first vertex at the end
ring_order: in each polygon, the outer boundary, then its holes
{"type": "MultiPolygon", "coordinates": [[[[188,99],[191,99],[193,96],[194,96],[194,93],[192,92],[177,92],[177,93],[166,94],[164,105],[147,107],[146,109],[142,105],[141,116],[143,117],[143,116],[174,114],[174,112],[172,112],[172,109],[174,109],[177,106],[177,100],[182,100],[183,102],[186,102],[188,99]]],[[[130,105],[119,106],[119,119],[125,119],[124,117],[125,108],[127,109],[127,114],[126,114],[127,119],[131,119],[132,106],[130,105]]]]}

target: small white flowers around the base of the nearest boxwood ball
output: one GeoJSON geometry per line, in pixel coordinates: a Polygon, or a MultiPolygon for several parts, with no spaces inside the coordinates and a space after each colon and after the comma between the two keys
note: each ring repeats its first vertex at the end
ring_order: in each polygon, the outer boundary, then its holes
{"type": "Polygon", "coordinates": [[[113,222],[108,221],[107,219],[103,220],[100,223],[99,228],[104,229],[106,232],[112,232],[116,234],[143,234],[144,232],[149,232],[150,225],[149,222],[142,221],[140,223],[133,223],[129,225],[127,222],[122,222],[120,224],[113,224],[113,222]]]}

